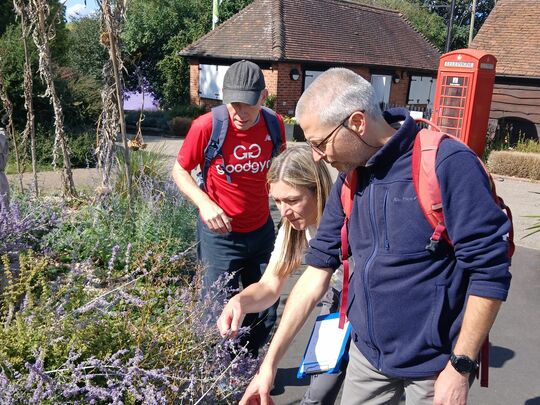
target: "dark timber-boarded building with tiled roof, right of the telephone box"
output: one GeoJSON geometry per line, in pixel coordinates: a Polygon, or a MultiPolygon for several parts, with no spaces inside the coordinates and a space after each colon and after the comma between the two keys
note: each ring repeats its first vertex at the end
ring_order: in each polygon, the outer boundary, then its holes
{"type": "Polygon", "coordinates": [[[499,0],[471,48],[497,58],[490,119],[500,130],[540,139],[540,1],[499,0]]]}

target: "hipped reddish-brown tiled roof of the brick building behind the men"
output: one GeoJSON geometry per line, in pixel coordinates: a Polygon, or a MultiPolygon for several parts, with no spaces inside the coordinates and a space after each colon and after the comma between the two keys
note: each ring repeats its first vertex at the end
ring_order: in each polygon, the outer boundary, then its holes
{"type": "Polygon", "coordinates": [[[422,70],[440,56],[400,13],[348,0],[255,0],[180,54],[422,70]]]}

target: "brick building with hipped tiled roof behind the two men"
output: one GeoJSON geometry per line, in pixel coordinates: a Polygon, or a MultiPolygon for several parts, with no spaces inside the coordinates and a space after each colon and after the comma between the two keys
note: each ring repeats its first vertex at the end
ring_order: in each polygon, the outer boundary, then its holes
{"type": "Polygon", "coordinates": [[[255,0],[180,55],[190,64],[191,103],[220,103],[226,69],[249,59],[285,115],[318,74],[338,66],[370,80],[381,103],[425,107],[440,56],[400,13],[348,0],[255,0]]]}

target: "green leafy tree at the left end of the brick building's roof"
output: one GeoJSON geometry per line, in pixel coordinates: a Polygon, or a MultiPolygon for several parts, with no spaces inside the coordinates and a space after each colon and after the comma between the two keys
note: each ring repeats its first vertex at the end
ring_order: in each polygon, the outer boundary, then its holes
{"type": "MultiPolygon", "coordinates": [[[[224,1],[224,21],[252,0],[224,1]]],[[[133,0],[123,33],[133,66],[138,66],[152,91],[168,107],[187,102],[189,66],[178,52],[211,29],[211,0],[133,0]]],[[[134,85],[132,84],[132,87],[134,85]]]]}

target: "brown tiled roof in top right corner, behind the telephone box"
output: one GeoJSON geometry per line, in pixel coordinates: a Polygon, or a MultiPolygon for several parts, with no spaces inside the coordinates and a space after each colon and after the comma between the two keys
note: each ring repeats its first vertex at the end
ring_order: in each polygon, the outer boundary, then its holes
{"type": "Polygon", "coordinates": [[[540,77],[540,0],[498,0],[471,48],[497,58],[497,75],[540,77]]]}

